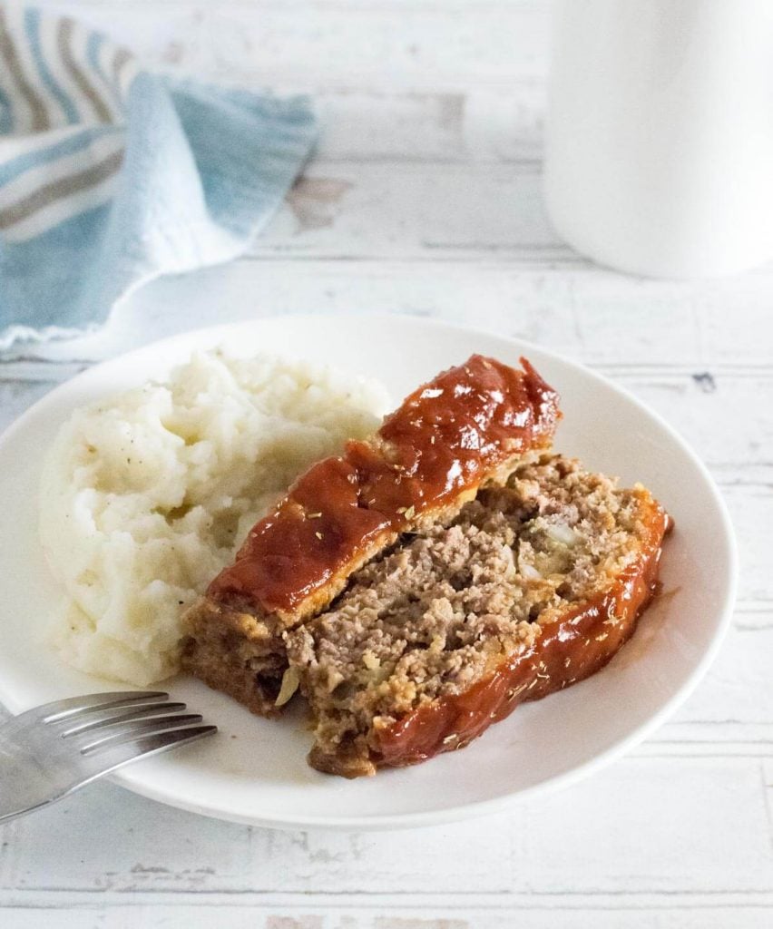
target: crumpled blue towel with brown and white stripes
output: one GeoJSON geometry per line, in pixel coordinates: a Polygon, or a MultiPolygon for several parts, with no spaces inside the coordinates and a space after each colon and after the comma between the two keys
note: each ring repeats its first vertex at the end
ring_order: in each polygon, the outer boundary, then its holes
{"type": "Polygon", "coordinates": [[[242,254],[315,136],[303,98],[144,71],[78,22],[0,4],[0,349],[242,254]]]}

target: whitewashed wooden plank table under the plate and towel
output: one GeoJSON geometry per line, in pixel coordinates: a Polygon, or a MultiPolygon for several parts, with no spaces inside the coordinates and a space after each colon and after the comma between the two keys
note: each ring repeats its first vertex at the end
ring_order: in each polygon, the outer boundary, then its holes
{"type": "Polygon", "coordinates": [[[772,925],[773,267],[642,281],[557,241],[540,201],[544,0],[43,6],[156,64],[308,91],[326,133],[252,255],[153,284],[103,333],[0,364],[0,425],[95,360],[242,319],[245,291],[250,316],[467,321],[582,360],[662,412],[719,482],[742,572],[695,695],[569,791],[464,825],[333,834],[197,818],[103,783],[0,828],[0,926],[772,925]]]}

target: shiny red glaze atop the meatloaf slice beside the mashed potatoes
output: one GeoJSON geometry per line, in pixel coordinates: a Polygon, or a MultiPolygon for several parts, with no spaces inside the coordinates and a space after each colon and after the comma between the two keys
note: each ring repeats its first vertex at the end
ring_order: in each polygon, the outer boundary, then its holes
{"type": "Polygon", "coordinates": [[[382,534],[475,490],[513,455],[547,444],[558,397],[523,371],[473,355],[419,387],[372,441],[314,464],[221,571],[207,594],[292,610],[347,569],[382,534]]]}

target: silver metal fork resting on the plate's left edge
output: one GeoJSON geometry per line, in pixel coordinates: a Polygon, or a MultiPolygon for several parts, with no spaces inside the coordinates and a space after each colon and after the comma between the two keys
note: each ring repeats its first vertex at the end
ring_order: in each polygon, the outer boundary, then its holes
{"type": "Polygon", "coordinates": [[[0,823],[61,800],[116,768],[209,736],[216,726],[161,691],[89,694],[0,726],[0,823]]]}

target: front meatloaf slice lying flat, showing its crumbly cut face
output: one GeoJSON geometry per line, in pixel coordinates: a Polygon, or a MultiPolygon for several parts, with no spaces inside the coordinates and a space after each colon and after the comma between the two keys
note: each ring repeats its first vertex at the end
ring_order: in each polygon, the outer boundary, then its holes
{"type": "Polygon", "coordinates": [[[287,635],[316,723],[309,764],[347,778],[413,765],[594,674],[633,634],[668,526],[645,488],[556,455],[404,536],[287,635]]]}

